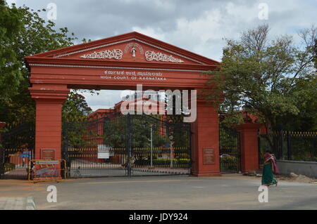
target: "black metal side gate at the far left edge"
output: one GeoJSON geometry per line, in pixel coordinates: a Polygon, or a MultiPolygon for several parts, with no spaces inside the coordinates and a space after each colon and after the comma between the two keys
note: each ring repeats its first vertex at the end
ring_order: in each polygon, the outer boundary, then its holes
{"type": "Polygon", "coordinates": [[[0,179],[27,179],[35,154],[35,124],[22,124],[0,133],[0,179]]]}

